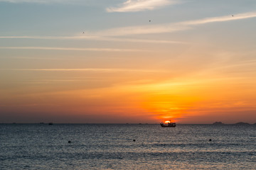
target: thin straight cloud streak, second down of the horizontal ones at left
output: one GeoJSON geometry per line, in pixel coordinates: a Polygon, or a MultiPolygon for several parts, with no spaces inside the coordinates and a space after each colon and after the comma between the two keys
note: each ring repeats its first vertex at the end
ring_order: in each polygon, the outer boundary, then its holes
{"type": "Polygon", "coordinates": [[[11,50],[73,50],[73,51],[97,51],[97,52],[137,52],[144,50],[119,49],[119,48],[70,48],[70,47],[0,47],[0,49],[11,50]]]}

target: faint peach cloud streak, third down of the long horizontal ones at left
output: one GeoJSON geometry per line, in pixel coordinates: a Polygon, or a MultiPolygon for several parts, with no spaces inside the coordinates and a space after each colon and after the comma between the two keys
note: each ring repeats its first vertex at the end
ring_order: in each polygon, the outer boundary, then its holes
{"type": "Polygon", "coordinates": [[[86,68],[86,69],[0,69],[0,71],[25,71],[25,72],[164,72],[149,69],[102,69],[102,68],[86,68]]]}

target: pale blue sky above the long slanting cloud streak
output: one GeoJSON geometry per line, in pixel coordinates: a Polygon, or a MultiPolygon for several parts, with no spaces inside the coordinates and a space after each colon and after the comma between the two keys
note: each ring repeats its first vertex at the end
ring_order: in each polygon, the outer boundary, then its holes
{"type": "Polygon", "coordinates": [[[149,20],[152,24],[176,23],[255,9],[254,1],[165,0],[155,1],[152,6],[144,3],[141,8],[134,4],[134,9],[125,11],[124,1],[1,1],[1,33],[74,35],[82,30],[144,26],[149,20]]]}

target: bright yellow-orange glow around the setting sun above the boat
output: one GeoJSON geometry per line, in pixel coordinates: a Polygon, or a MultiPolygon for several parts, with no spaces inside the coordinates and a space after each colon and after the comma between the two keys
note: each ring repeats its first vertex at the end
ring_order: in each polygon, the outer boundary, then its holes
{"type": "Polygon", "coordinates": [[[191,94],[191,86],[159,82],[148,84],[144,90],[142,108],[154,115],[155,120],[179,120],[200,98],[191,94]],[[163,85],[164,84],[164,85],[163,85]]]}

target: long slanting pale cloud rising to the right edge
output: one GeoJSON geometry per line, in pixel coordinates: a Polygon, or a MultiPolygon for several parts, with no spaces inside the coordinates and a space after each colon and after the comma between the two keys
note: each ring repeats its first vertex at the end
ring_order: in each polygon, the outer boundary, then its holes
{"type": "Polygon", "coordinates": [[[218,16],[212,18],[203,18],[199,20],[183,21],[178,23],[166,23],[151,26],[132,26],[122,28],[112,28],[109,30],[102,30],[95,33],[88,33],[89,35],[98,36],[122,36],[122,35],[137,35],[137,34],[154,34],[154,33],[173,33],[180,30],[188,30],[193,26],[199,26],[207,23],[217,23],[225,21],[236,21],[247,18],[255,18],[256,12],[238,13],[233,16],[218,16]]]}

